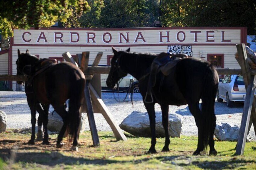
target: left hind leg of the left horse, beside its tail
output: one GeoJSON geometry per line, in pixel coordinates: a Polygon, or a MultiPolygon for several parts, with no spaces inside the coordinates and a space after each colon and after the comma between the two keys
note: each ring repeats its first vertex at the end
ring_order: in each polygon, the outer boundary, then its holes
{"type": "Polygon", "coordinates": [[[68,121],[67,120],[67,115],[68,115],[68,112],[66,111],[64,105],[62,105],[62,106],[53,105],[53,108],[61,116],[61,118],[63,120],[63,126],[62,126],[62,128],[59,132],[58,140],[57,140],[57,144],[56,144],[57,148],[61,148],[64,145],[64,142],[62,142],[62,139],[63,139],[64,133],[67,129],[67,121],[68,121]]]}

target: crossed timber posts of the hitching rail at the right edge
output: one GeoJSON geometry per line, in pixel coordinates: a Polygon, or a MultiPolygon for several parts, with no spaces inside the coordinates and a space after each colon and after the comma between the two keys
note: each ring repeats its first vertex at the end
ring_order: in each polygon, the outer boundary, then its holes
{"type": "MultiPolygon", "coordinates": [[[[251,113],[255,114],[255,105],[253,104],[253,100],[254,100],[256,76],[255,75],[251,76],[250,74],[250,68],[247,61],[245,44],[238,44],[237,51],[238,51],[238,57],[239,57],[239,60],[238,60],[239,65],[241,66],[243,77],[244,77],[244,82],[246,87],[246,96],[245,96],[245,103],[243,108],[240,131],[238,134],[236,154],[243,155],[245,142],[248,134],[248,127],[250,124],[251,113]]],[[[253,120],[253,122],[255,125],[255,120],[253,120]]]]}

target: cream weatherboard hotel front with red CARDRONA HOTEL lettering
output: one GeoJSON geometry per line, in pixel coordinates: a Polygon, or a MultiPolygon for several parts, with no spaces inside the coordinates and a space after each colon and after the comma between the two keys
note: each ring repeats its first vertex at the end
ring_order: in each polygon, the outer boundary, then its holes
{"type": "MultiPolygon", "coordinates": [[[[155,28],[119,28],[119,29],[14,29],[12,43],[12,74],[15,75],[17,50],[40,58],[62,57],[69,51],[75,55],[83,51],[90,51],[89,64],[92,64],[98,52],[103,56],[100,65],[107,65],[107,56],[113,55],[111,46],[117,50],[130,52],[167,52],[168,45],[190,45],[193,57],[205,60],[207,54],[224,54],[225,68],[239,68],[234,54],[235,44],[246,42],[245,27],[155,27],[155,28]],[[78,38],[79,36],[79,38],[78,38]]],[[[15,89],[15,82],[13,82],[15,89]]]]}

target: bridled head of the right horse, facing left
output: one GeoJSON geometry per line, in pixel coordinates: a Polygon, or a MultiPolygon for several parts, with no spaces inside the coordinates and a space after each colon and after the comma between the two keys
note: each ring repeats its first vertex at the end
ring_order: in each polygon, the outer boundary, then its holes
{"type": "Polygon", "coordinates": [[[118,81],[127,75],[127,72],[121,69],[120,60],[121,56],[126,52],[130,52],[130,48],[124,51],[117,51],[114,47],[112,47],[114,56],[111,59],[111,69],[109,75],[107,77],[107,87],[114,88],[114,86],[118,83],[118,81]]]}

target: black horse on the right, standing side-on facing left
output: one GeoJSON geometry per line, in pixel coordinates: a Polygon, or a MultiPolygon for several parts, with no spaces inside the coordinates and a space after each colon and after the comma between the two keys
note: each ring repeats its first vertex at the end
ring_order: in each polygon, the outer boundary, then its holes
{"type": "MultiPolygon", "coordinates": [[[[118,80],[130,73],[139,80],[139,89],[143,99],[146,97],[149,72],[155,54],[138,54],[117,51],[113,48],[114,57],[107,78],[107,86],[113,88],[118,80]]],[[[167,55],[167,54],[166,54],[167,55]]],[[[162,122],[165,129],[165,146],[162,151],[169,151],[168,110],[169,105],[188,104],[198,128],[198,144],[194,155],[200,154],[210,145],[210,155],[216,155],[213,133],[216,126],[214,103],[218,88],[218,74],[208,61],[193,57],[178,61],[168,76],[159,72],[156,84],[152,88],[153,103],[145,102],[149,113],[151,128],[151,147],[148,153],[156,153],[155,144],[155,103],[162,109],[162,122]],[[201,108],[199,100],[202,100],[201,108]]]]}

